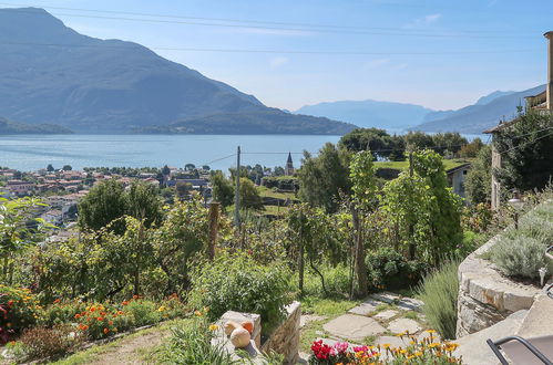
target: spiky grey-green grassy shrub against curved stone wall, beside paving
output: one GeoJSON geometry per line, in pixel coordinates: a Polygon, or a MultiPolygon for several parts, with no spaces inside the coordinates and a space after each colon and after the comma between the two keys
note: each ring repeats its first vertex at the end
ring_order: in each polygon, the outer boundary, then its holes
{"type": "Polygon", "coordinates": [[[458,268],[460,260],[448,260],[429,272],[417,288],[417,296],[424,302],[422,313],[428,323],[444,338],[455,337],[458,268]]]}

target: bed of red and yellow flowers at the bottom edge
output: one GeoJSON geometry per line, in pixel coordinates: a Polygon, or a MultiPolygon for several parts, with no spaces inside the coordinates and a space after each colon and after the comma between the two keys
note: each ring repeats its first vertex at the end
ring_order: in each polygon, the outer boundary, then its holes
{"type": "Polygon", "coordinates": [[[453,356],[457,344],[451,342],[434,342],[434,331],[429,330],[429,336],[422,341],[409,334],[398,336],[409,341],[406,347],[392,347],[389,344],[377,346],[351,346],[347,342],[334,345],[315,341],[311,345],[311,365],[339,364],[462,364],[461,358],[453,356]]]}

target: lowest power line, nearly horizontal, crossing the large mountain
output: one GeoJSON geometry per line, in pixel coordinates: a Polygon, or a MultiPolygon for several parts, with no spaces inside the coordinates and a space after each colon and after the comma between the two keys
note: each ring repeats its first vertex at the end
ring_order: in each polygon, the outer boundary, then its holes
{"type": "MultiPolygon", "coordinates": [[[[29,46],[60,46],[60,48],[107,48],[107,49],[135,49],[144,46],[129,42],[129,45],[107,44],[74,44],[74,43],[38,43],[38,42],[0,42],[4,45],[29,45],[29,46]]],[[[293,51],[293,50],[246,50],[246,49],[204,49],[204,48],[170,48],[170,46],[144,46],[156,51],[183,51],[183,52],[222,52],[222,53],[277,53],[277,54],[329,54],[329,55],[459,55],[459,54],[499,54],[499,53],[528,53],[539,50],[496,50],[496,51],[452,51],[452,52],[360,52],[360,51],[293,51]]]]}

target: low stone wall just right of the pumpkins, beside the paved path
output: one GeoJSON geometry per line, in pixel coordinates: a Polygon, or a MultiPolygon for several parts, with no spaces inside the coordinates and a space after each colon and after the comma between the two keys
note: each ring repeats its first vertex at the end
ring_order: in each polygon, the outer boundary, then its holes
{"type": "Polygon", "coordinates": [[[299,350],[299,320],[301,305],[294,302],[286,306],[288,313],[286,320],[273,332],[270,337],[263,344],[262,351],[270,351],[284,355],[285,364],[296,364],[299,350]]]}

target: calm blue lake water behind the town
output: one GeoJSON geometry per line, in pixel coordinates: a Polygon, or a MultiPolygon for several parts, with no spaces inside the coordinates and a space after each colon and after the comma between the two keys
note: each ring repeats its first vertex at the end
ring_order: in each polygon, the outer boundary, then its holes
{"type": "Polygon", "coordinates": [[[242,147],[242,164],[284,166],[291,152],[299,166],[303,150],[317,152],[326,142],[340,136],[228,136],[228,135],[18,135],[0,136],[0,166],[37,170],[52,164],[55,168],[86,166],[184,167],[192,163],[227,169],[236,157],[221,159],[242,147]],[[221,159],[221,160],[218,160],[221,159]],[[216,160],[216,161],[214,161],[216,160]]]}

